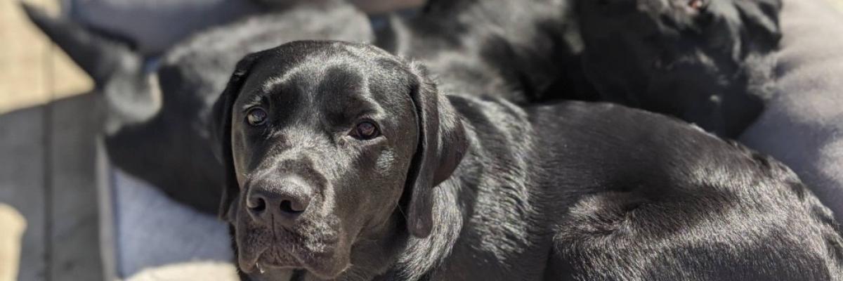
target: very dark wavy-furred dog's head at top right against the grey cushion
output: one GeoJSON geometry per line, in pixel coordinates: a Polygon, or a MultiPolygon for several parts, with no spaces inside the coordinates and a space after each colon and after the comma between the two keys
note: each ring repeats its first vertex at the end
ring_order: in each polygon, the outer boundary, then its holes
{"type": "Polygon", "coordinates": [[[582,0],[583,69],[600,100],[735,138],[774,92],[781,0],[582,0]]]}

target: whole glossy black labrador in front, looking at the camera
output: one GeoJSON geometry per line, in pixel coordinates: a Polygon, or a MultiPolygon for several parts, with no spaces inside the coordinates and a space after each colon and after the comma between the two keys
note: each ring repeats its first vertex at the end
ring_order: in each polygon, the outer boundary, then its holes
{"type": "Polygon", "coordinates": [[[843,278],[838,224],[774,159],[622,105],[460,94],[373,46],[296,41],[244,57],[212,114],[239,269],[843,278]]]}

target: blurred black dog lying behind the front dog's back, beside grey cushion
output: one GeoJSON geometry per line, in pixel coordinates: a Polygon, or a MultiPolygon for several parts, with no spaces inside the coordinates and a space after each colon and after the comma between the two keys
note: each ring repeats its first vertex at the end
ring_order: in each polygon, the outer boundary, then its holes
{"type": "Polygon", "coordinates": [[[603,100],[734,138],[760,114],[779,0],[431,1],[378,46],[444,88],[520,104],[603,100]]]}

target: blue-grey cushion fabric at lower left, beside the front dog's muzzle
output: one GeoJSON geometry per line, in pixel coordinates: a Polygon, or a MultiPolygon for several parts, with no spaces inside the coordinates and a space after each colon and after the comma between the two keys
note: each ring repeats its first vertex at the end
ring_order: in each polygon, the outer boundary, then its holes
{"type": "Polygon", "coordinates": [[[222,220],[176,203],[120,170],[112,178],[118,277],[150,276],[160,272],[156,268],[170,276],[174,266],[164,266],[173,264],[236,277],[228,226],[222,220]]]}

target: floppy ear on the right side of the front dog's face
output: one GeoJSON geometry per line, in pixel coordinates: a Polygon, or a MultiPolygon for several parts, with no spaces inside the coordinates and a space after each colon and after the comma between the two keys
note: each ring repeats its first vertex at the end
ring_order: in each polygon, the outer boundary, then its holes
{"type": "Polygon", "coordinates": [[[423,238],[430,235],[433,224],[433,187],[451,176],[468,149],[468,141],[454,107],[438,94],[427,70],[413,62],[411,73],[416,78],[411,99],[419,139],[405,186],[411,192],[407,230],[423,238]]]}

